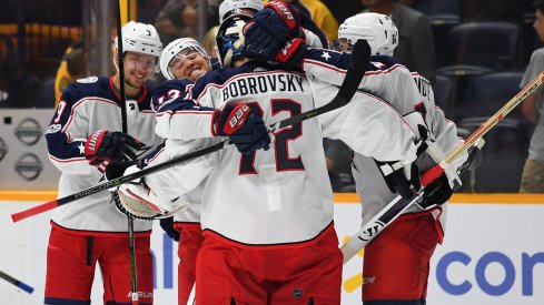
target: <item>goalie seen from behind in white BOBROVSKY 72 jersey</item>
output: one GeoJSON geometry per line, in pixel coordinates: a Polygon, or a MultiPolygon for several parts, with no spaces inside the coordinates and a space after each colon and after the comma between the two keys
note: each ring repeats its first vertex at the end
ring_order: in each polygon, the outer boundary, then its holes
{"type": "Polygon", "coordinates": [[[167,139],[165,150],[149,164],[194,151],[187,148],[190,140],[229,136],[236,149],[154,173],[146,184],[123,184],[120,197],[123,204],[139,201],[167,213],[170,201],[207,177],[198,304],[339,304],[342,254],[323,136],[342,139],[379,160],[411,163],[416,157],[414,134],[389,105],[358,92],[346,105],[349,111],[333,111],[275,132],[270,145],[264,121],[313,110],[337,89],[246,59],[241,29],[247,20],[231,16],[221,23],[220,61],[231,68],[210,71],[195,83],[190,94],[197,105],[188,101],[192,106],[176,120],[184,141],[167,139]]]}

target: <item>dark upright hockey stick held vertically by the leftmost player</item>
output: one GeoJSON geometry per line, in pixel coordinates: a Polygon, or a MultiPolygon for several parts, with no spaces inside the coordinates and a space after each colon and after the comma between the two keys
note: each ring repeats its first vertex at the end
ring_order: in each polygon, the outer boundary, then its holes
{"type": "MultiPolygon", "coordinates": [[[[117,2],[117,64],[119,65],[119,95],[121,105],[122,132],[128,133],[127,125],[127,100],[125,95],[125,61],[122,51],[122,29],[121,29],[121,4],[117,2]]],[[[158,58],[157,58],[158,60],[158,58]]],[[[135,246],[135,221],[127,215],[128,248],[130,256],[130,284],[132,305],[138,305],[138,272],[136,268],[136,246],[135,246]]]]}

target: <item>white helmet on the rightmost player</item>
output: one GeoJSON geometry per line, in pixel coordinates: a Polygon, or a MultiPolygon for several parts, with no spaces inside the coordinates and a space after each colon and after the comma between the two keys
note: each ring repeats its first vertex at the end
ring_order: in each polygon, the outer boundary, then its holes
{"type": "Polygon", "coordinates": [[[363,12],[350,17],[338,28],[338,40],[347,40],[350,49],[358,39],[365,39],[373,55],[393,55],[398,44],[398,30],[389,17],[363,12]]]}

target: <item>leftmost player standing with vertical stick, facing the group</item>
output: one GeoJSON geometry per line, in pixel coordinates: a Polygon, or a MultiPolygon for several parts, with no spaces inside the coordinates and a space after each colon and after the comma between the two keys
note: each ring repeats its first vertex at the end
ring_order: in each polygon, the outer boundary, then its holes
{"type": "MultiPolygon", "coordinates": [[[[117,39],[116,39],[117,40],[117,39]]],[[[117,43],[116,43],[117,47],[117,43]]],[[[91,77],[70,84],[46,132],[49,159],[62,172],[59,197],[103,180],[112,161],[136,156],[155,145],[155,115],[146,81],[158,67],[162,43],[155,28],[128,22],[122,27],[125,79],[91,77]],[[128,134],[121,133],[119,88],[127,93],[128,134]]],[[[116,49],[117,51],[117,49],[116,49]]],[[[152,304],[151,223],[136,221],[135,244],[140,304],[152,304]]],[[[105,304],[131,302],[127,220],[110,204],[108,192],[56,210],[47,252],[44,304],[90,304],[96,264],[103,279],[105,304]]]]}

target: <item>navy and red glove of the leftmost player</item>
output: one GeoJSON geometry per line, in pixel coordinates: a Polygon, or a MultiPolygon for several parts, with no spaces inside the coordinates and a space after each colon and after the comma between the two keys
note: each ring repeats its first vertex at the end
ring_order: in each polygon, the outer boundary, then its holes
{"type": "MultiPolygon", "coordinates": [[[[138,157],[137,151],[144,143],[129,134],[115,131],[98,130],[87,138],[85,143],[85,157],[90,165],[102,167],[101,164],[111,161],[131,161],[138,157]]],[[[105,167],[105,166],[103,166],[105,167]]],[[[103,169],[101,170],[103,172],[103,169]]]]}

